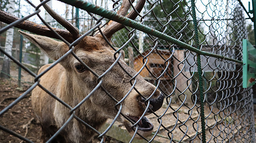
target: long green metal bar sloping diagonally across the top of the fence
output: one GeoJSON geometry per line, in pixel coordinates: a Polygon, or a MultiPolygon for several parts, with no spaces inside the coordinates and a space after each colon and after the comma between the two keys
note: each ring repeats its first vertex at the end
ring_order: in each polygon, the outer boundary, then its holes
{"type": "Polygon", "coordinates": [[[145,33],[148,33],[150,35],[153,35],[155,37],[158,37],[160,39],[163,39],[165,41],[169,41],[171,43],[174,43],[182,48],[185,48],[187,50],[190,50],[190,51],[194,51],[200,55],[205,55],[205,56],[210,56],[210,57],[215,57],[215,58],[220,58],[220,59],[223,59],[223,60],[229,60],[229,61],[235,61],[235,62],[238,62],[238,63],[243,63],[243,61],[239,61],[239,60],[236,60],[236,59],[232,59],[232,58],[229,58],[229,57],[225,57],[225,56],[222,56],[222,55],[218,55],[218,54],[214,54],[214,53],[210,53],[210,52],[206,52],[206,51],[201,51],[197,48],[194,48],[182,41],[179,41],[169,35],[166,35],[160,31],[156,31],[148,26],[145,26],[143,24],[140,24],[139,22],[136,22],[135,20],[131,20],[131,19],[128,19],[124,16],[121,16],[121,15],[118,15],[116,14],[116,12],[114,11],[111,11],[111,10],[106,10],[102,7],[99,7],[99,6],[96,6],[90,2],[87,2],[87,1],[84,1],[84,0],[59,0],[59,1],[62,1],[64,3],[67,3],[67,4],[70,4],[74,7],[77,7],[77,8],[80,8],[82,10],[86,10],[88,12],[92,12],[94,14],[97,14],[97,15],[100,15],[102,17],[105,17],[109,20],[114,20],[116,22],[119,22],[121,24],[124,24],[125,26],[128,26],[128,27],[131,27],[131,28],[134,28],[134,29],[137,29],[139,31],[143,31],[145,33]]]}

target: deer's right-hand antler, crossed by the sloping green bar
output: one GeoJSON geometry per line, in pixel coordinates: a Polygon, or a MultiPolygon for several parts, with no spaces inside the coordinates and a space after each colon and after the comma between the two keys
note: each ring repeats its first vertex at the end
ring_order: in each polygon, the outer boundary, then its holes
{"type": "MultiPolygon", "coordinates": [[[[131,0],[131,3],[133,3],[134,0],[131,0]]],[[[139,15],[140,11],[142,10],[142,8],[144,7],[146,0],[139,0],[135,6],[135,10],[132,10],[126,17],[131,19],[131,20],[135,20],[136,17],[139,15]]],[[[129,8],[131,7],[131,4],[128,0],[124,0],[121,8],[117,11],[117,14],[120,14],[122,16],[125,16],[129,10],[129,8]]],[[[103,33],[106,36],[107,39],[111,39],[112,35],[116,32],[121,30],[122,28],[124,28],[124,26],[116,21],[112,21],[110,20],[108,22],[108,24],[106,25],[103,33]]]]}

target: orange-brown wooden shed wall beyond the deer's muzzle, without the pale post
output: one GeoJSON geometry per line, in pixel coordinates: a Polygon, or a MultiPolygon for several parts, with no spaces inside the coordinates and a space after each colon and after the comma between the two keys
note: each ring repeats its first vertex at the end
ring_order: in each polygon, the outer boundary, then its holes
{"type": "Polygon", "coordinates": [[[171,84],[173,77],[173,59],[171,57],[172,52],[169,50],[158,49],[153,51],[147,50],[141,54],[144,57],[139,55],[134,58],[134,70],[137,72],[141,71],[140,75],[145,80],[155,85],[155,80],[159,78],[159,88],[166,92],[166,94],[170,94],[173,91],[173,85],[171,84]],[[169,61],[169,65],[166,61],[169,61]],[[164,70],[166,71],[164,72],[164,70]],[[163,75],[161,76],[162,73],[163,75]]]}

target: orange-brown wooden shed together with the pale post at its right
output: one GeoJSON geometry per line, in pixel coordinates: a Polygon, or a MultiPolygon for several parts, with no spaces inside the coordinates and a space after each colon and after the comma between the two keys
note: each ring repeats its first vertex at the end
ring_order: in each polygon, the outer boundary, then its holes
{"type": "MultiPolygon", "coordinates": [[[[190,77],[190,72],[186,72],[184,68],[184,63],[181,64],[180,62],[183,61],[185,58],[184,49],[175,50],[174,53],[173,51],[169,50],[147,50],[141,54],[144,56],[144,58],[140,55],[135,57],[133,67],[134,70],[137,72],[139,72],[141,68],[144,67],[141,70],[140,75],[145,80],[156,85],[156,79],[160,77],[159,88],[162,92],[165,92],[166,95],[172,94],[172,101],[174,102],[177,100],[177,96],[182,94],[182,91],[189,92],[187,90],[187,77],[190,77]],[[179,59],[180,61],[175,60],[174,57],[179,59]],[[168,67],[167,61],[169,61],[168,67]],[[145,66],[143,66],[144,63],[145,66]],[[164,70],[166,71],[164,72],[164,70]],[[181,71],[183,74],[181,74],[181,71]],[[162,73],[163,75],[160,76],[162,73]],[[174,81],[173,77],[176,77],[174,81]],[[177,84],[177,82],[179,82],[179,84],[177,84]],[[179,90],[175,90],[174,88],[177,88],[179,90]],[[173,92],[174,90],[175,92],[173,92]]],[[[188,93],[189,96],[190,94],[191,93],[188,93]]]]}

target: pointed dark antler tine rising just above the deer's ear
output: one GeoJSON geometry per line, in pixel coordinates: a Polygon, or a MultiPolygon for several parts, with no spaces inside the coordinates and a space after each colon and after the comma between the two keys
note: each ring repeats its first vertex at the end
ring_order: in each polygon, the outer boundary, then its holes
{"type": "MultiPolygon", "coordinates": [[[[40,0],[41,2],[43,0],[40,0]]],[[[43,5],[43,7],[45,8],[45,10],[47,10],[47,12],[53,17],[53,19],[55,19],[56,21],[58,21],[58,23],[60,25],[62,25],[63,27],[65,27],[68,31],[70,31],[70,33],[73,36],[73,39],[76,40],[80,37],[79,34],[79,30],[78,28],[76,28],[73,24],[71,24],[68,20],[64,19],[63,17],[61,17],[60,15],[58,15],[58,13],[56,13],[54,10],[52,10],[46,3],[43,5]]]]}

